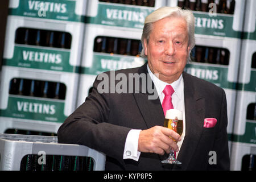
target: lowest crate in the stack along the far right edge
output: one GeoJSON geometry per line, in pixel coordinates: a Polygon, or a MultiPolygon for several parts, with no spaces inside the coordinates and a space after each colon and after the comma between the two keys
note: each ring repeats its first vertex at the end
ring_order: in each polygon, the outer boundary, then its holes
{"type": "Polygon", "coordinates": [[[255,155],[256,144],[233,142],[232,155],[230,158],[230,170],[255,171],[255,155]],[[248,156],[249,158],[247,158],[248,156]]]}

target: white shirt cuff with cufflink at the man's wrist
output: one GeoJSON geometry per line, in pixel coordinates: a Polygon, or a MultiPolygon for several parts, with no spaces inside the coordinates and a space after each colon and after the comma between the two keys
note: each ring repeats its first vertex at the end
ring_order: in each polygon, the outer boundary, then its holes
{"type": "Polygon", "coordinates": [[[138,161],[141,152],[138,151],[139,133],[142,130],[130,130],[126,137],[123,159],[133,159],[138,161]]]}

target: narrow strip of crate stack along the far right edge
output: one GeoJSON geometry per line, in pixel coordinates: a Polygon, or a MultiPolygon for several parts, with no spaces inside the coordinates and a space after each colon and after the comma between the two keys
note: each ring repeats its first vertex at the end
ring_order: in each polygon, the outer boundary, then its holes
{"type": "Polygon", "coordinates": [[[237,104],[232,135],[233,170],[256,170],[256,1],[246,1],[237,104]]]}

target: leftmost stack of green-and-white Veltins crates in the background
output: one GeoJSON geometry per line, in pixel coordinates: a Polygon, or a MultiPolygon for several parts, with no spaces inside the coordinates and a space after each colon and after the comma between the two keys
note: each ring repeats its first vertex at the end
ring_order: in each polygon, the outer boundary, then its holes
{"type": "Polygon", "coordinates": [[[56,135],[76,109],[86,1],[10,0],[0,133],[56,135]]]}

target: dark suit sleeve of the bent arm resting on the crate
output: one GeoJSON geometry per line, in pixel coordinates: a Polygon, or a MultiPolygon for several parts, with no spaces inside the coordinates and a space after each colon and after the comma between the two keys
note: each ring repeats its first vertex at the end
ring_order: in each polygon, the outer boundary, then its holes
{"type": "Polygon", "coordinates": [[[60,126],[58,141],[88,146],[122,163],[125,140],[131,129],[109,123],[110,96],[98,93],[99,82],[96,78],[92,93],[60,126]]]}

